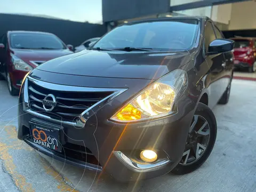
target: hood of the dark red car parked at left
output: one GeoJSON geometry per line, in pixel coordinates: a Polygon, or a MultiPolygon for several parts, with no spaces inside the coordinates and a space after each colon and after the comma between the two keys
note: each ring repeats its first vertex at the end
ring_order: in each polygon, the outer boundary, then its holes
{"type": "Polygon", "coordinates": [[[49,61],[61,57],[63,55],[71,54],[68,49],[63,50],[29,50],[29,49],[12,49],[12,53],[23,61],[29,63],[30,66],[36,67],[31,61],[49,61]]]}

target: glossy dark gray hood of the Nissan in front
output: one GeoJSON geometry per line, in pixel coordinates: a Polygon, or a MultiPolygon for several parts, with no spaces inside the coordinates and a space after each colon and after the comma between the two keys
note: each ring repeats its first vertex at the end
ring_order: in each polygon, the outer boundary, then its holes
{"type": "Polygon", "coordinates": [[[80,76],[157,79],[189,60],[188,51],[82,51],[45,62],[37,69],[80,76]]]}

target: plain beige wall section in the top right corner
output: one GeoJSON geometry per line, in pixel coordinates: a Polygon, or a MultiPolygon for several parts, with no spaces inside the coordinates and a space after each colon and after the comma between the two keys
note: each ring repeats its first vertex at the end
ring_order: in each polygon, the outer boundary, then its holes
{"type": "Polygon", "coordinates": [[[256,2],[233,3],[229,30],[256,29],[256,2]]]}

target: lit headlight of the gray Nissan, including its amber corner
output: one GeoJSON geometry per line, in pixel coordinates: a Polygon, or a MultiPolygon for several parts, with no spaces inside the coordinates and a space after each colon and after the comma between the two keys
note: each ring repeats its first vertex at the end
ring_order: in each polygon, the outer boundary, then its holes
{"type": "Polygon", "coordinates": [[[176,112],[174,103],[188,84],[186,71],[173,70],[146,87],[110,119],[118,122],[140,121],[176,112]]]}

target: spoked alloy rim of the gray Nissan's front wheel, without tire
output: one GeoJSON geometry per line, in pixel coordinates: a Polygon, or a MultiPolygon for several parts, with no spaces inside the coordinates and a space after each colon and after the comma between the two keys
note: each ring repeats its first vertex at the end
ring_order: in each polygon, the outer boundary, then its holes
{"type": "Polygon", "coordinates": [[[210,126],[201,115],[194,115],[191,123],[185,152],[180,161],[181,165],[190,165],[198,161],[207,149],[210,139],[210,126]]]}

